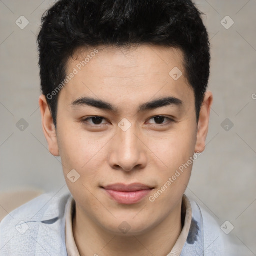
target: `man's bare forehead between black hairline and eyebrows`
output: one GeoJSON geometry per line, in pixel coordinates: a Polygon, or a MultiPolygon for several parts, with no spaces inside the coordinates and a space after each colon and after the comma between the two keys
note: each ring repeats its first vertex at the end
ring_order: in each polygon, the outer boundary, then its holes
{"type": "Polygon", "coordinates": [[[72,72],[75,75],[60,91],[69,104],[88,95],[114,100],[116,104],[143,102],[154,96],[191,101],[193,93],[185,76],[182,51],[177,48],[148,45],[80,48],[67,61],[66,74],[72,72]],[[173,79],[173,72],[182,75],[173,79]]]}

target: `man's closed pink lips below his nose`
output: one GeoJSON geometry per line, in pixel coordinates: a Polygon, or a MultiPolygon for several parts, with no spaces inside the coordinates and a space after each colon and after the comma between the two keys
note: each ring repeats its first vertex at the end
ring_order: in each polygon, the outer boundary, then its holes
{"type": "Polygon", "coordinates": [[[144,198],[153,188],[141,183],[116,183],[103,187],[112,199],[122,204],[133,204],[144,198]]]}

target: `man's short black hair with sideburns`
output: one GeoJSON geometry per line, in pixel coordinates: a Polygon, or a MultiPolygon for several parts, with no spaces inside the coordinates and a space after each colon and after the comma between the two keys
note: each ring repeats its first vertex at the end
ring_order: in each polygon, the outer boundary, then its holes
{"type": "Polygon", "coordinates": [[[195,96],[196,121],[209,78],[210,43],[191,0],[59,0],[42,15],[37,43],[41,91],[56,127],[58,93],[66,63],[80,47],[159,45],[182,50],[195,96]]]}

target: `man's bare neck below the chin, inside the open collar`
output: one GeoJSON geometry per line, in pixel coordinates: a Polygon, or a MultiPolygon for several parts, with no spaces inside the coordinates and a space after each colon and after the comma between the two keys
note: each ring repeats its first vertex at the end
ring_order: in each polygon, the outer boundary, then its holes
{"type": "Polygon", "coordinates": [[[169,215],[144,233],[113,234],[89,218],[75,204],[73,235],[81,256],[166,256],[173,248],[182,229],[181,203],[169,215]]]}

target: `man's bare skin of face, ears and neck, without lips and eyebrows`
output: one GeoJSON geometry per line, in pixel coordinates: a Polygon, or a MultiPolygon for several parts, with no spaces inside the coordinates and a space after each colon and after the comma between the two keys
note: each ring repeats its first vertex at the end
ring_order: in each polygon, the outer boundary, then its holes
{"type": "MultiPolygon", "coordinates": [[[[51,154],[60,156],[67,186],[76,202],[73,234],[81,255],[166,256],[182,229],[181,200],[192,164],[158,197],[159,190],[194,152],[202,152],[208,132],[212,93],[205,93],[196,123],[194,93],[183,68],[179,49],[140,45],[133,50],[97,47],[93,57],[59,92],[57,129],[44,95],[39,97],[43,132],[51,154]],[[174,80],[169,72],[183,75],[174,80]],[[111,112],[92,106],[72,107],[81,96],[102,99],[118,108],[111,112]],[[173,96],[182,106],[168,105],[144,112],[137,107],[161,96],[173,96]],[[157,123],[157,115],[164,118],[157,123]],[[103,117],[100,124],[91,116],[103,117]],[[118,123],[126,118],[126,131],[118,123]],[[98,125],[98,126],[97,126],[98,125]],[[80,178],[67,178],[75,169],[80,178]],[[140,182],[149,195],[125,205],[110,198],[100,186],[140,182]],[[126,221],[130,230],[118,226],[126,221]]],[[[92,50],[91,50],[92,51],[92,50]]],[[[69,58],[67,74],[91,51],[69,58]]]]}

